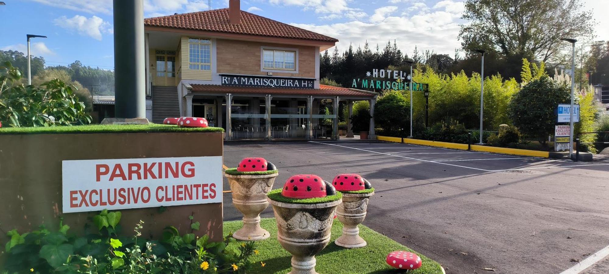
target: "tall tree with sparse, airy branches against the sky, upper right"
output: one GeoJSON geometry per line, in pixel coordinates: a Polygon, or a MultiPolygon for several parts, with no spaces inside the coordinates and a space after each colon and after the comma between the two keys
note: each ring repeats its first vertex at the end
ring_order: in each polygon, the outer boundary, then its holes
{"type": "Polygon", "coordinates": [[[459,38],[463,49],[482,47],[507,57],[547,61],[561,38],[590,37],[592,13],[581,0],[468,0],[459,38]]]}

